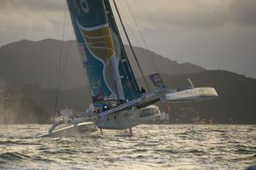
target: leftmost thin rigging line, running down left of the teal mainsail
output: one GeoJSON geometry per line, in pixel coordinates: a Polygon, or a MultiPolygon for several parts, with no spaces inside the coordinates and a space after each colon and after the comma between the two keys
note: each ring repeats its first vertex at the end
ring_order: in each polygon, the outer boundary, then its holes
{"type": "Polygon", "coordinates": [[[61,64],[62,64],[62,54],[63,54],[63,40],[65,36],[65,27],[66,27],[66,15],[67,15],[67,4],[65,3],[65,12],[64,12],[64,22],[63,22],[63,29],[61,35],[61,53],[60,53],[60,60],[58,65],[58,72],[57,72],[57,82],[56,82],[56,92],[55,92],[55,108],[54,113],[57,111],[58,99],[60,95],[60,81],[61,81],[61,64]]]}

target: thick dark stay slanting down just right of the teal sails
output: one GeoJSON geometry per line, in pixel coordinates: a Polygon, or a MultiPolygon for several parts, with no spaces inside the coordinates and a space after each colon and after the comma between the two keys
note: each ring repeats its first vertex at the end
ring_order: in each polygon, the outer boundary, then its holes
{"type": "Polygon", "coordinates": [[[146,84],[146,86],[147,86],[147,88],[148,88],[148,91],[150,92],[150,88],[149,88],[149,86],[148,86],[148,82],[147,82],[147,80],[146,80],[146,78],[145,78],[145,76],[144,76],[144,74],[143,74],[142,67],[141,67],[141,65],[140,65],[139,62],[138,62],[137,56],[136,56],[136,54],[135,54],[135,52],[134,52],[134,49],[133,49],[132,46],[131,46],[130,38],[128,37],[127,31],[125,30],[125,26],[124,26],[124,23],[123,23],[123,20],[122,20],[120,14],[119,14],[119,9],[118,9],[118,7],[117,7],[117,4],[115,3],[115,0],[113,0],[113,4],[114,4],[114,7],[115,7],[115,9],[116,9],[116,11],[117,11],[117,14],[118,14],[118,16],[119,16],[119,20],[120,20],[120,23],[121,23],[121,25],[122,25],[122,27],[123,27],[123,30],[125,31],[125,37],[127,38],[127,41],[128,41],[128,43],[129,43],[129,45],[130,45],[131,52],[132,52],[132,54],[133,54],[133,56],[134,56],[134,58],[135,58],[135,60],[136,60],[136,62],[137,62],[138,68],[139,68],[139,70],[140,70],[140,72],[141,72],[141,74],[142,74],[142,76],[143,76],[143,80],[144,80],[144,82],[145,82],[145,84],[146,84]]]}

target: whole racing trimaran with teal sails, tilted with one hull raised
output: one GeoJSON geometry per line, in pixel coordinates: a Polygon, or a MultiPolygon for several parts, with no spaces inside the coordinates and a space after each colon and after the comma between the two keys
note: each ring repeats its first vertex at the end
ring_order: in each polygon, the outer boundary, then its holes
{"type": "MultiPolygon", "coordinates": [[[[125,31],[114,0],[113,4],[125,31]]],[[[131,127],[160,116],[158,106],[153,105],[158,101],[199,101],[218,96],[214,88],[195,88],[190,80],[189,89],[167,89],[158,73],[150,76],[154,90],[142,94],[125,52],[109,0],[67,0],[67,6],[90,83],[93,104],[84,117],[55,122],[48,133],[40,136],[55,136],[63,132],[73,135],[81,129],[86,131],[91,126],[90,122],[100,128],[101,132],[102,129],[130,129],[132,134],[131,127]],[[68,126],[55,130],[55,127],[64,122],[68,126]]],[[[126,31],[125,36],[131,46],[126,31]]],[[[137,61],[132,46],[131,51],[137,61]]],[[[138,61],[137,65],[146,81],[138,61]]]]}

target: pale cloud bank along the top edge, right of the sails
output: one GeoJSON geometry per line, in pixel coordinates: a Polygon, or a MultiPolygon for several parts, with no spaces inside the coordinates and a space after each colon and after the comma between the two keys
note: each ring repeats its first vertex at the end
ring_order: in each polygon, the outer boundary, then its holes
{"type": "MultiPolygon", "coordinates": [[[[254,26],[255,0],[126,0],[143,28],[215,29],[226,25],[254,26]]],[[[125,0],[117,1],[132,24],[125,0]]]]}

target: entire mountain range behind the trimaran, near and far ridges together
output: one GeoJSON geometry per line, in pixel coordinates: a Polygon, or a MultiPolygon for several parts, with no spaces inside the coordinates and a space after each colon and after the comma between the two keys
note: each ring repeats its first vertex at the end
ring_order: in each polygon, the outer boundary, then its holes
{"type": "MultiPolygon", "coordinates": [[[[74,41],[63,42],[66,50],[64,54],[67,53],[69,43],[72,47],[71,56],[67,60],[63,79],[63,87],[66,89],[61,89],[59,109],[69,107],[84,112],[91,102],[90,89],[86,84],[84,68],[74,41]]],[[[126,48],[131,56],[131,51],[126,48]]],[[[3,122],[51,122],[54,116],[52,111],[60,49],[61,41],[53,39],[38,42],[22,40],[0,48],[0,119],[3,122]]],[[[148,84],[153,89],[154,85],[148,78],[152,73],[150,62],[147,57],[143,57],[142,48],[135,49],[147,75],[148,84]]],[[[157,103],[161,111],[170,115],[168,123],[193,123],[193,119],[198,118],[202,122],[211,123],[256,123],[256,79],[231,71],[209,71],[189,63],[177,64],[176,61],[151,53],[159,65],[167,88],[188,86],[187,78],[190,78],[195,87],[213,87],[219,95],[217,99],[208,101],[172,104],[169,105],[169,110],[166,110],[165,105],[157,103]]],[[[129,59],[138,83],[143,84],[134,60],[131,57],[129,59]]]]}

